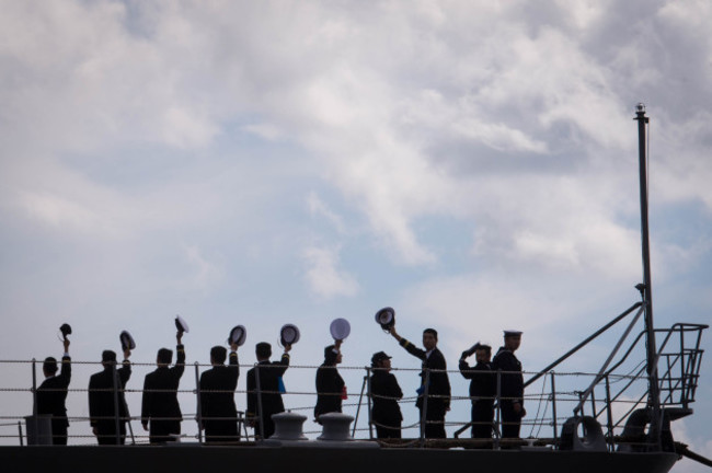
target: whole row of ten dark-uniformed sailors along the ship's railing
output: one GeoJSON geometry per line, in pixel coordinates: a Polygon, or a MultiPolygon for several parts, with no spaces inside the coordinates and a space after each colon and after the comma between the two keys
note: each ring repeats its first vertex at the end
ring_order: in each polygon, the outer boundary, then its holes
{"type": "MultiPolygon", "coordinates": [[[[447,364],[437,348],[437,331],[423,332],[423,348],[403,338],[395,326],[386,328],[409,354],[422,360],[421,388],[416,407],[424,420],[423,434],[426,438],[445,438],[445,416],[450,409],[450,382],[447,364]],[[427,396],[427,397],[426,397],[427,396]]],[[[151,443],[172,441],[181,434],[181,407],[177,389],[185,369],[185,349],[182,343],[183,331],[176,333],[176,361],[171,367],[173,353],[161,348],[157,356],[158,368],[146,376],[141,402],[141,424],[149,431],[151,443]]],[[[341,412],[345,399],[345,384],[336,366],[342,361],[341,339],[324,349],[324,362],[317,370],[317,405],[314,417],[330,412],[341,412]]],[[[524,409],[524,380],[521,364],[514,353],[519,348],[521,332],[505,331],[504,344],[492,358],[487,345],[476,344],[463,351],[459,360],[462,376],[470,379],[472,400],[472,437],[491,438],[494,419],[494,399],[497,395],[502,415],[502,438],[518,438],[524,409]],[[473,367],[467,358],[475,355],[473,367]],[[502,373],[497,376],[496,371],[502,373]]],[[[71,358],[69,339],[64,338],[65,354],[61,370],[55,358],[46,358],[43,365],[45,381],[37,389],[36,412],[51,415],[54,445],[67,445],[69,422],[65,401],[71,379],[71,358]],[[59,374],[57,374],[59,371],[59,374]]],[[[234,391],[240,376],[237,342],[231,341],[230,351],[222,346],[210,349],[211,369],[204,371],[199,380],[198,415],[200,429],[205,430],[208,443],[230,442],[239,439],[234,391]],[[226,365],[226,359],[228,359],[226,365]]],[[[282,377],[289,367],[290,344],[285,345],[278,361],[271,361],[272,346],[259,343],[255,347],[257,365],[248,371],[248,425],[255,430],[256,438],[269,438],[274,434],[272,415],[285,411],[282,392],[282,377]],[[259,388],[259,389],[257,389],[259,388]],[[257,399],[260,396],[260,399],[257,399]]],[[[105,350],[102,354],[103,370],[93,374],[89,381],[89,415],[93,434],[100,445],[124,443],[126,419],[129,417],[123,388],[131,376],[130,349],[124,347],[124,360],[118,369],[116,354],[105,350]],[[115,406],[118,406],[116,413],[115,406]]],[[[370,392],[372,399],[371,419],[376,425],[378,438],[400,438],[403,416],[398,400],[403,392],[390,372],[390,356],[383,351],[371,358],[372,370],[370,392]]]]}

